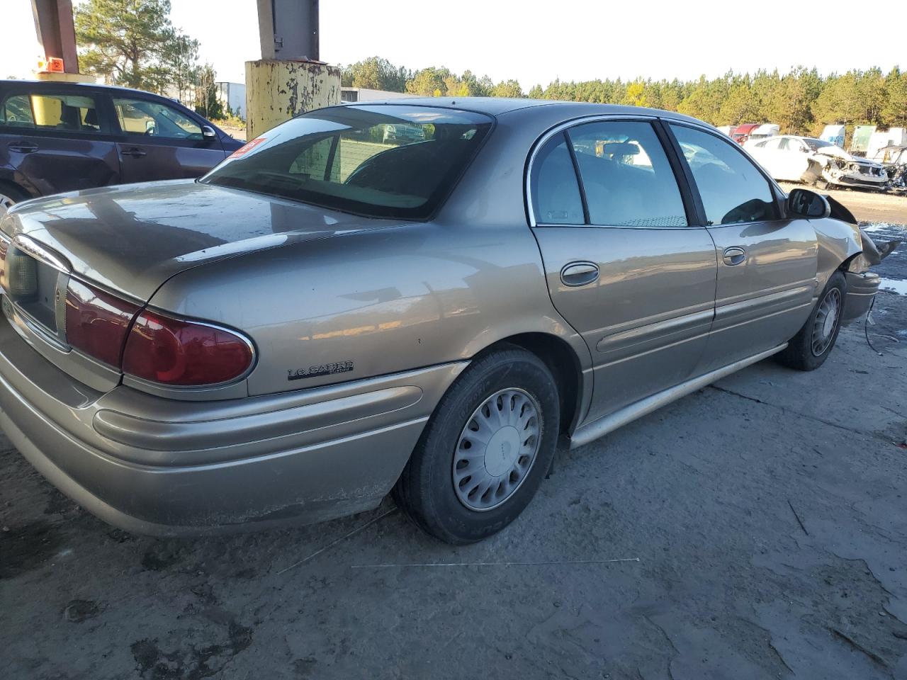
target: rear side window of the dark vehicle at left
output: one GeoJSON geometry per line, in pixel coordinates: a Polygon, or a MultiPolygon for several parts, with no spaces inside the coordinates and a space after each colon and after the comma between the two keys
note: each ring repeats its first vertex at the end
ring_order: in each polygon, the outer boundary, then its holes
{"type": "Polygon", "coordinates": [[[0,108],[5,125],[66,132],[99,132],[94,97],[85,94],[13,94],[0,108]]]}

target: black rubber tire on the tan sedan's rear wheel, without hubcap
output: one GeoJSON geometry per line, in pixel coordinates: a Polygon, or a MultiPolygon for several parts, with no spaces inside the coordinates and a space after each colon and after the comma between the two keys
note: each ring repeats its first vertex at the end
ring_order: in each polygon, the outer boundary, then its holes
{"type": "MultiPolygon", "coordinates": [[[[548,367],[536,355],[514,345],[505,345],[479,356],[434,409],[395,485],[397,505],[420,529],[454,545],[473,543],[500,531],[529,504],[551,467],[560,426],[559,404],[558,386],[548,367]],[[528,471],[522,478],[517,476],[511,495],[500,501],[500,505],[474,510],[465,505],[468,499],[460,499],[465,491],[454,489],[454,468],[460,464],[454,463],[454,454],[458,447],[465,446],[461,435],[467,424],[473,423],[480,407],[502,390],[516,390],[534,400],[530,401],[538,414],[538,449],[528,471]]],[[[486,451],[492,449],[488,447],[486,451]]],[[[510,453],[509,445],[506,451],[510,453]]],[[[501,452],[503,457],[503,446],[501,452]]],[[[519,457],[519,453],[514,457],[519,457]]],[[[469,464],[481,464],[483,471],[488,470],[484,460],[469,464]]],[[[460,489],[465,487],[461,485],[460,489]]],[[[497,487],[497,492],[501,489],[497,487]]],[[[483,498],[486,495],[483,494],[483,498]]],[[[493,496],[489,498],[491,500],[487,502],[494,501],[493,496]]]]}

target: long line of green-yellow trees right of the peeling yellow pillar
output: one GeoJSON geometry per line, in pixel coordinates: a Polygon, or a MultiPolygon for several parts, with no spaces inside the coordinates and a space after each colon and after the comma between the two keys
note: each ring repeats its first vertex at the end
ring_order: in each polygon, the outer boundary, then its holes
{"type": "Polygon", "coordinates": [[[713,125],[773,122],[791,134],[818,134],[826,124],[907,126],[907,73],[892,68],[821,75],[798,66],[787,73],[728,71],[697,80],[561,81],[535,85],[524,93],[515,80],[493,83],[471,71],[461,75],[444,67],[409,71],[381,57],[345,66],[342,84],[426,97],[525,97],[649,106],[686,113],[713,125]]]}

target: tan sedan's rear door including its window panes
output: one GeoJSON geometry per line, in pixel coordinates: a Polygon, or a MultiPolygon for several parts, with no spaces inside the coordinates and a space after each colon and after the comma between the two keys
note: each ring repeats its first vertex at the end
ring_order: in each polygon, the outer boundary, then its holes
{"type": "Polygon", "coordinates": [[[715,245],[689,226],[663,139],[654,119],[592,121],[552,133],[532,160],[551,299],[593,357],[590,419],[686,380],[706,348],[715,245]]]}

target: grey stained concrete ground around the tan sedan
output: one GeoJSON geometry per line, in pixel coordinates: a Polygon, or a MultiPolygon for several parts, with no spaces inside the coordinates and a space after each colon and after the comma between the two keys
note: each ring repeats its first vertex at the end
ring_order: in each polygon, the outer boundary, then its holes
{"type": "MultiPolygon", "coordinates": [[[[886,267],[907,279],[903,252],[886,267]]],[[[460,549],[389,500],[132,536],[0,435],[0,676],[907,678],[907,296],[873,316],[883,355],[850,326],[814,373],[756,364],[561,452],[460,549]]]]}

